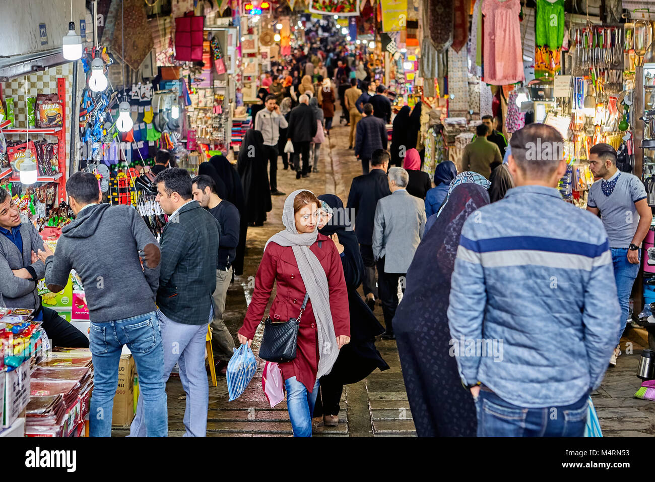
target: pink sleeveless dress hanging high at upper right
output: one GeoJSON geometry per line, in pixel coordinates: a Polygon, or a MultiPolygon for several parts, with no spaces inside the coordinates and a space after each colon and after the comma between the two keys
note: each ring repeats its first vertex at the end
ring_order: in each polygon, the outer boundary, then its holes
{"type": "Polygon", "coordinates": [[[484,81],[509,85],[523,81],[519,0],[484,0],[484,81]]]}

